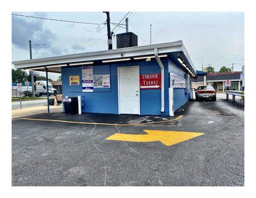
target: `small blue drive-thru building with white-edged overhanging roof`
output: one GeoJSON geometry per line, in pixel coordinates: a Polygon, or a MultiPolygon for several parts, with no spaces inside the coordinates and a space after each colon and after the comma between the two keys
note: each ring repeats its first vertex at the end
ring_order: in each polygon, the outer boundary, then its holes
{"type": "Polygon", "coordinates": [[[62,95],[82,96],[82,112],[172,116],[190,98],[196,69],[182,41],[14,61],[61,73],[62,95]]]}

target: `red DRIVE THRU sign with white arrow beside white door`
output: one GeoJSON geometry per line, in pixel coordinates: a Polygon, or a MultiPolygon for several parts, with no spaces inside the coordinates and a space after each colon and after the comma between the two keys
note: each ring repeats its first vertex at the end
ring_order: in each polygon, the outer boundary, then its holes
{"type": "Polygon", "coordinates": [[[140,89],[141,90],[161,89],[161,73],[140,75],[140,89]]]}

